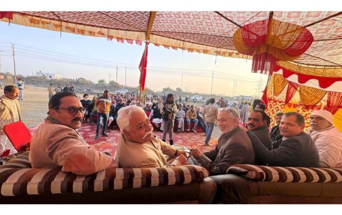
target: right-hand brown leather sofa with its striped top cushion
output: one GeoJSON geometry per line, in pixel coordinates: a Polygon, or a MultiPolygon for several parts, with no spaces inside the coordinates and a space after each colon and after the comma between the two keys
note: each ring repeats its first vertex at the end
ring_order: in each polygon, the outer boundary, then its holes
{"type": "Polygon", "coordinates": [[[236,164],[217,182],[215,201],[251,204],[341,204],[342,168],[236,164]]]}

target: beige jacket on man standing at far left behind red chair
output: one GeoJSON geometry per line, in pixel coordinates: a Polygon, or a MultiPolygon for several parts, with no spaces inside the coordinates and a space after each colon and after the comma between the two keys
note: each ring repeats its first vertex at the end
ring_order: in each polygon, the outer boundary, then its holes
{"type": "MultiPolygon", "coordinates": [[[[13,116],[13,108],[12,108],[12,101],[8,99],[5,95],[0,97],[0,135],[4,135],[3,127],[7,124],[13,123],[14,116],[13,116]]],[[[22,121],[21,111],[18,100],[14,100],[15,105],[17,106],[18,113],[19,113],[19,120],[22,121]]]]}

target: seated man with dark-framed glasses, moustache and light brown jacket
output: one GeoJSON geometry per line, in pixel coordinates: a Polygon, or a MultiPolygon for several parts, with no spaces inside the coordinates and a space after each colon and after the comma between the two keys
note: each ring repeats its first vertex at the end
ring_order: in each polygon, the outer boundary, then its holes
{"type": "Polygon", "coordinates": [[[76,131],[84,108],[73,92],[59,92],[49,101],[48,116],[32,134],[28,159],[33,168],[61,168],[64,172],[90,175],[116,168],[112,156],[91,148],[76,131]]]}

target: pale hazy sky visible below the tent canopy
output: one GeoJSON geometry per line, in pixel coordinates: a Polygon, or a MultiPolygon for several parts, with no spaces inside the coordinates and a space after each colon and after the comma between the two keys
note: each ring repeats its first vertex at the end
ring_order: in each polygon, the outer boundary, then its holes
{"type": "MultiPolygon", "coordinates": [[[[56,10],[55,7],[29,6],[25,8],[56,10]]],[[[132,8],[134,9],[134,5],[132,8]]],[[[20,9],[23,8],[13,10],[20,9]]],[[[131,45],[126,41],[122,44],[116,40],[108,41],[107,38],[65,32],[60,35],[57,31],[0,22],[1,72],[14,71],[11,44],[14,44],[16,71],[20,75],[28,76],[43,71],[59,74],[63,78],[82,77],[93,82],[105,79],[109,82],[116,80],[117,67],[118,83],[125,84],[127,70],[126,84],[139,85],[138,66],[144,45],[131,45]]],[[[214,72],[213,94],[231,96],[233,80],[237,80],[235,95],[261,96],[260,91],[266,84],[267,75],[253,74],[251,66],[251,60],[175,51],[150,44],[145,86],[155,91],[169,86],[172,89],[181,87],[190,92],[210,93],[214,72]]]]}

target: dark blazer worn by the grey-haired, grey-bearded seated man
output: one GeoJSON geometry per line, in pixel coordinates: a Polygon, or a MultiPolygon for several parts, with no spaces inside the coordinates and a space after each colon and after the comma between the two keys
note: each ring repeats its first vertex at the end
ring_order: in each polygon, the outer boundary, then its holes
{"type": "Polygon", "coordinates": [[[251,140],[240,127],[236,127],[228,134],[221,134],[216,148],[204,153],[199,158],[199,163],[210,175],[226,174],[233,164],[254,164],[251,140]]]}

